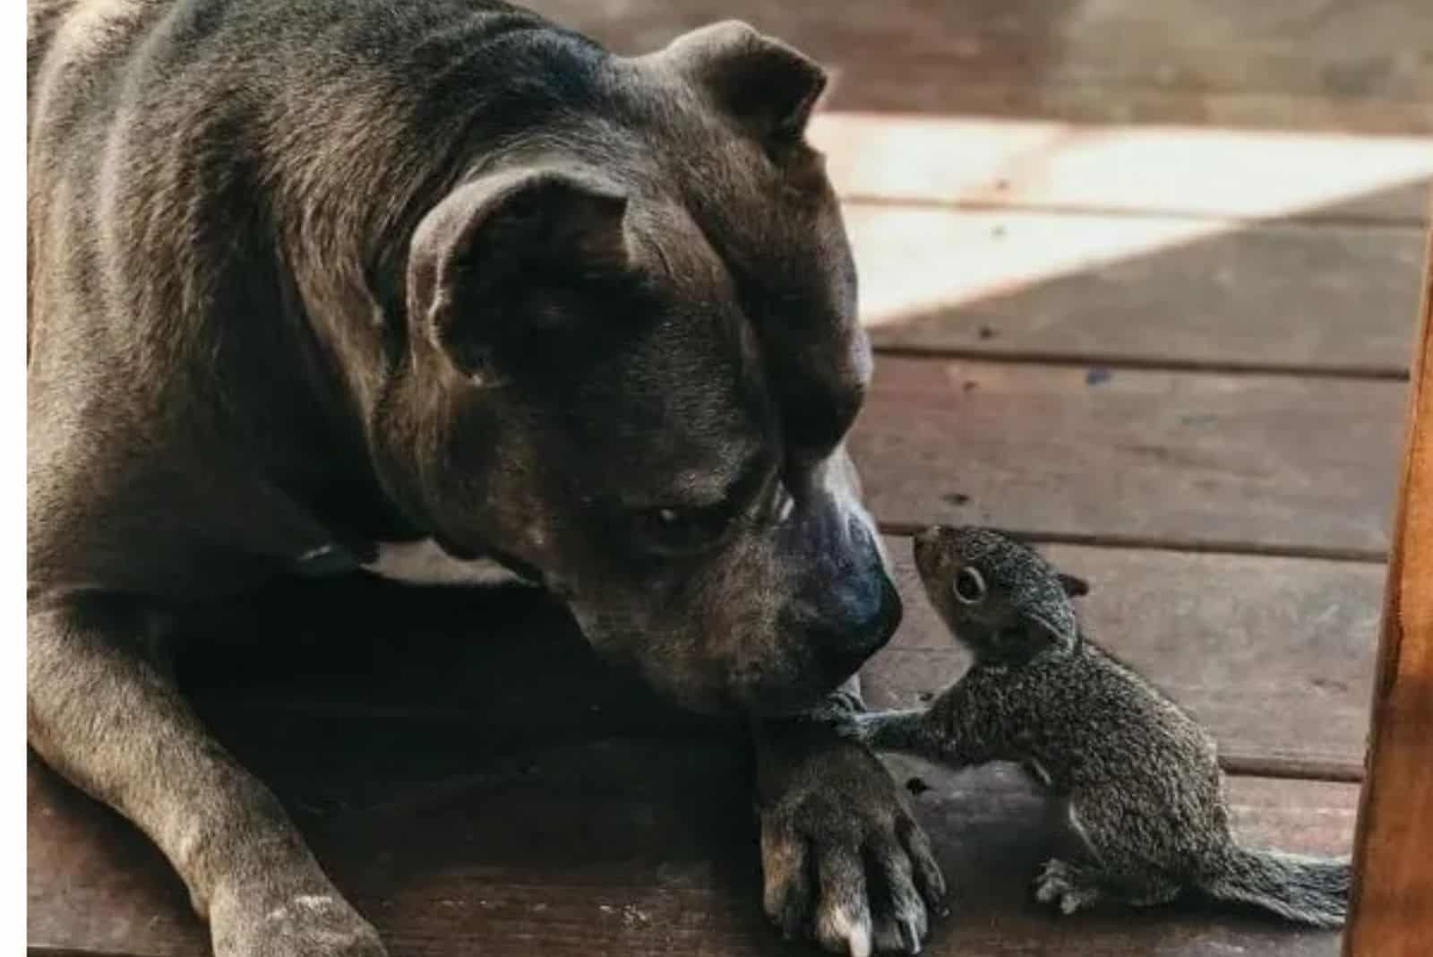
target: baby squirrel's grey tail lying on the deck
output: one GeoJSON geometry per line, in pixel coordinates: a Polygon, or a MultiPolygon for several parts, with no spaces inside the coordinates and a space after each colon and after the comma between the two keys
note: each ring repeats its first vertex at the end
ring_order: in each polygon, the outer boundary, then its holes
{"type": "Polygon", "coordinates": [[[1218,900],[1254,904],[1313,927],[1343,927],[1348,858],[1304,857],[1234,847],[1201,888],[1218,900]]]}

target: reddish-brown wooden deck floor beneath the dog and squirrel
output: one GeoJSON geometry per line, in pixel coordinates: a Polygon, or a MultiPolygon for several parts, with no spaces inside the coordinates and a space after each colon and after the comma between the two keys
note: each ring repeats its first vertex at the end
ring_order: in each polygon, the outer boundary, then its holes
{"type": "MultiPolygon", "coordinates": [[[[853,446],[909,607],[868,698],[964,665],[903,536],[1025,530],[1212,728],[1248,840],[1348,850],[1433,182],[1426,1],[533,6],[622,52],[744,17],[835,69],[814,136],[881,352],[853,446]]],[[[539,596],[320,585],[215,629],[205,715],[396,957],[787,953],[739,735],[608,673],[539,596]]],[[[952,885],[927,953],[1338,953],[1194,907],[1056,920],[1026,888],[1062,837],[1022,776],[888,764],[952,885]]],[[[208,953],[158,854],[33,759],[29,941],[208,953]]]]}

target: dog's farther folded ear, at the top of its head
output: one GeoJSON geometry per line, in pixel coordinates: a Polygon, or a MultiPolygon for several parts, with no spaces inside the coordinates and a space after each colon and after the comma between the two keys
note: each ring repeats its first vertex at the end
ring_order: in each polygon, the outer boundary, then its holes
{"type": "Polygon", "coordinates": [[[739,20],[684,33],[661,56],[770,146],[801,139],[827,85],[810,57],[739,20]]]}

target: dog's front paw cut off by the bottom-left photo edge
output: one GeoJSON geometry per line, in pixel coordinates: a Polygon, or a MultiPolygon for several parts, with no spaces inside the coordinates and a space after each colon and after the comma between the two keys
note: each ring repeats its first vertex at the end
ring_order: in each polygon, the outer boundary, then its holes
{"type": "Polygon", "coordinates": [[[215,957],[387,957],[378,931],[332,888],[242,888],[209,908],[215,957]]]}

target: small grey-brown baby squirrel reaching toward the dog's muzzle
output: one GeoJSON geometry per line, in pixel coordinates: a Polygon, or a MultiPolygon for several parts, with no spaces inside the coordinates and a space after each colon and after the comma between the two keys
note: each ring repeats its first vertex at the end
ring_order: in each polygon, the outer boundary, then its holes
{"type": "Polygon", "coordinates": [[[943,764],[1019,761],[1066,797],[1089,860],[1049,861],[1035,881],[1040,903],[1070,914],[1197,891],[1343,924],[1348,860],[1235,844],[1214,741],[1082,632],[1070,599],[1088,585],[987,529],[931,527],[914,553],[974,663],[929,709],[858,713],[844,731],[943,764]]]}

